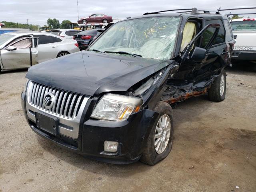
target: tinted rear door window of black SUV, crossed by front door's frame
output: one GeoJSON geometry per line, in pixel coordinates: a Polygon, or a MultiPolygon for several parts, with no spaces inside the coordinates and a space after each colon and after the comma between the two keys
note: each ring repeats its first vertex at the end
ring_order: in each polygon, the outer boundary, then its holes
{"type": "MultiPolygon", "coordinates": [[[[206,20],[204,26],[207,26],[208,24],[211,24],[211,23],[220,24],[220,29],[219,29],[218,35],[215,38],[212,45],[223,43],[224,38],[225,38],[225,30],[224,30],[224,26],[222,24],[222,21],[220,19],[206,20]]],[[[202,48],[205,48],[205,46],[208,44],[208,42],[212,38],[214,32],[215,32],[215,28],[210,27],[203,33],[203,35],[202,35],[202,44],[201,44],[202,48]]]]}

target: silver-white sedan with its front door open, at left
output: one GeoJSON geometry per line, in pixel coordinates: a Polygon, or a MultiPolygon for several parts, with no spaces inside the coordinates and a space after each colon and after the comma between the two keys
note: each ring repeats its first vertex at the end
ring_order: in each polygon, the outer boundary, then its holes
{"type": "Polygon", "coordinates": [[[10,32],[0,35],[0,70],[29,68],[78,51],[76,40],[41,32],[10,32]]]}

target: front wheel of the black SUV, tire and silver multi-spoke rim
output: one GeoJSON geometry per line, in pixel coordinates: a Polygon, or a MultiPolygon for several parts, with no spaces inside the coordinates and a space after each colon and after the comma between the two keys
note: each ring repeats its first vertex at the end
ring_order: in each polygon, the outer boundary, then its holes
{"type": "Polygon", "coordinates": [[[158,118],[148,137],[146,147],[140,161],[154,165],[166,158],[172,149],[174,121],[172,108],[166,102],[158,102],[154,108],[158,118]]]}

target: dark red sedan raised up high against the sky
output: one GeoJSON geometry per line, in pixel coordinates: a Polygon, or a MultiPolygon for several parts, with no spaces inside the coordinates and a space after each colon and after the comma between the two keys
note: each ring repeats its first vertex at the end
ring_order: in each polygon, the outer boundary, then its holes
{"type": "Polygon", "coordinates": [[[78,23],[87,24],[87,23],[110,23],[113,22],[111,16],[104,14],[92,14],[88,17],[83,17],[77,21],[78,23]]]}

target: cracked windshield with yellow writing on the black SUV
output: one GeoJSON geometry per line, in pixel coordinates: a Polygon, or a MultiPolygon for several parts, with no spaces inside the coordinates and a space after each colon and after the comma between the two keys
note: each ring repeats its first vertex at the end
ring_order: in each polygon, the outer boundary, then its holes
{"type": "Polygon", "coordinates": [[[118,22],[100,36],[90,50],[121,51],[167,60],[172,57],[179,22],[180,17],[176,16],[118,22]]]}

